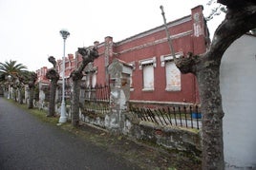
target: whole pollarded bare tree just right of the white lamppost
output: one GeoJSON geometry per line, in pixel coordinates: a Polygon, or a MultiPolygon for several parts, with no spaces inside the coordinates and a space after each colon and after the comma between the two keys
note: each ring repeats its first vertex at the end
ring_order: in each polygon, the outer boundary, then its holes
{"type": "Polygon", "coordinates": [[[71,73],[71,77],[73,80],[73,95],[72,95],[72,124],[73,126],[79,125],[79,95],[80,95],[80,84],[81,79],[83,77],[83,69],[89,63],[94,62],[94,60],[98,57],[98,52],[96,47],[93,48],[84,48],[78,47],[78,53],[82,55],[82,63],[81,65],[75,69],[71,73]]]}

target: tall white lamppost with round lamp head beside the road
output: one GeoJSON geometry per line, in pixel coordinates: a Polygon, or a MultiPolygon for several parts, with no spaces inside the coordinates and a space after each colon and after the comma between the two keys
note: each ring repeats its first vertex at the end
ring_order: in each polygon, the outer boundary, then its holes
{"type": "Polygon", "coordinates": [[[66,116],[66,106],[65,106],[65,46],[66,46],[66,39],[70,35],[70,32],[66,29],[61,29],[60,34],[64,40],[64,47],[63,47],[63,57],[62,57],[62,103],[61,103],[61,113],[59,118],[59,123],[66,123],[67,116],[66,116]]]}

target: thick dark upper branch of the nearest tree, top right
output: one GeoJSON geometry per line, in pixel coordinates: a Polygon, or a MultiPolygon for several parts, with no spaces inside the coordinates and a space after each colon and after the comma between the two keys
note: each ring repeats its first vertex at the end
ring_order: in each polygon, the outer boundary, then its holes
{"type": "Polygon", "coordinates": [[[207,56],[213,60],[221,60],[224,51],[236,39],[244,35],[249,29],[256,28],[256,4],[251,1],[219,0],[227,5],[227,13],[223,23],[216,29],[211,47],[207,56]],[[237,6],[236,6],[237,5],[237,6]],[[239,6],[240,5],[240,6],[239,6]],[[214,55],[218,54],[218,55],[214,55]]]}

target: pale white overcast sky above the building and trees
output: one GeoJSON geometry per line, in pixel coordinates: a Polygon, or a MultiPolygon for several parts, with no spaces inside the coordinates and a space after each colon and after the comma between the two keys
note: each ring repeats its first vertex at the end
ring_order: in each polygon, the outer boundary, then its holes
{"type": "MultiPolygon", "coordinates": [[[[160,5],[167,22],[191,13],[206,0],[0,0],[0,62],[15,60],[35,71],[52,67],[48,55],[63,56],[63,39],[59,30],[71,35],[66,54],[77,47],[102,43],[106,36],[118,42],[163,24],[160,5]]],[[[207,10],[208,11],[208,10],[207,10]]],[[[206,15],[206,13],[205,13],[206,15]]],[[[223,18],[221,18],[222,20],[223,18]]],[[[210,31],[220,19],[208,23],[210,31]]]]}

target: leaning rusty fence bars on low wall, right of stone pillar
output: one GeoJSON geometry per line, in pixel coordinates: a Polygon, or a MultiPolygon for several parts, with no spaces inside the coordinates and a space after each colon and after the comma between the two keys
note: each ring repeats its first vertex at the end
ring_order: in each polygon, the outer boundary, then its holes
{"type": "Polygon", "coordinates": [[[130,112],[139,121],[186,128],[202,127],[202,114],[198,105],[141,105],[129,103],[130,112]]]}

